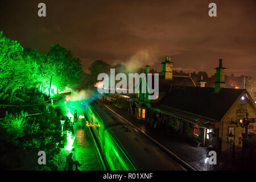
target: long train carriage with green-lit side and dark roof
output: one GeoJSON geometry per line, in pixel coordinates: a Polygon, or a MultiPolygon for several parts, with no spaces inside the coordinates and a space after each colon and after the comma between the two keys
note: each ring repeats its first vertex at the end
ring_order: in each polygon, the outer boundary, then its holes
{"type": "Polygon", "coordinates": [[[184,165],[96,101],[84,100],[81,106],[110,170],[185,170],[184,165]]]}

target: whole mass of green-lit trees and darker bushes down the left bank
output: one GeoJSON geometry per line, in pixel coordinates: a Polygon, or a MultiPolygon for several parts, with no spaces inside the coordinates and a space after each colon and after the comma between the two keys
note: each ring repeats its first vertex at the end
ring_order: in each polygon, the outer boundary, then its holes
{"type": "Polygon", "coordinates": [[[0,72],[0,168],[56,169],[54,158],[67,137],[61,136],[63,115],[48,112],[49,98],[38,88],[49,85],[51,76],[57,88],[75,85],[82,73],[80,60],[59,44],[47,54],[23,49],[1,32],[0,72]],[[40,150],[46,151],[47,168],[38,167],[40,150]]]}

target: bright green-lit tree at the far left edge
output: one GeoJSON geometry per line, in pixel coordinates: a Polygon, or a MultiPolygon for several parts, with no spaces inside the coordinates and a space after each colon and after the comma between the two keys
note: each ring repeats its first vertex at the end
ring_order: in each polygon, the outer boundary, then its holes
{"type": "Polygon", "coordinates": [[[3,36],[3,32],[0,33],[0,71],[0,99],[23,101],[15,94],[31,84],[27,80],[30,75],[28,64],[23,59],[23,47],[3,36]]]}

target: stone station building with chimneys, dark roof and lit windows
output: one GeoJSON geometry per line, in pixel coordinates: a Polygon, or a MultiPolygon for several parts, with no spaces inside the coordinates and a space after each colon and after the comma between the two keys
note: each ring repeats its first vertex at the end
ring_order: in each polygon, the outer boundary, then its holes
{"type": "MultiPolygon", "coordinates": [[[[171,58],[165,57],[156,100],[148,100],[150,93],[141,92],[140,82],[139,93],[130,99],[130,114],[152,127],[168,127],[196,146],[225,151],[231,144],[242,147],[245,127],[240,126],[240,119],[247,113],[248,136],[255,143],[255,102],[246,89],[225,88],[226,68],[222,67],[222,60],[215,68],[214,88],[205,87],[203,77],[195,82],[190,74],[174,75],[172,65],[171,58]]],[[[146,66],[145,72],[150,73],[150,66],[146,66]]]]}

